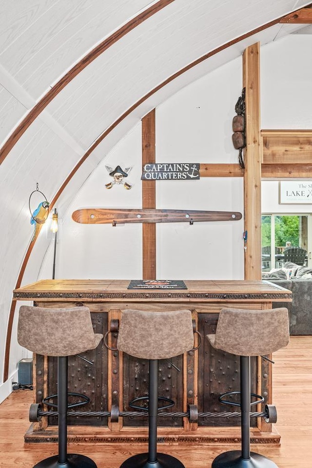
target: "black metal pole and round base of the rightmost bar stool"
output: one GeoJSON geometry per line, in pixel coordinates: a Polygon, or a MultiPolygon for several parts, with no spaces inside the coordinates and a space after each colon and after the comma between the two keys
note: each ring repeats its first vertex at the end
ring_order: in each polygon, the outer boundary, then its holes
{"type": "Polygon", "coordinates": [[[269,458],[250,451],[250,392],[250,356],[240,356],[241,451],[221,453],[212,468],[277,468],[269,458]]]}

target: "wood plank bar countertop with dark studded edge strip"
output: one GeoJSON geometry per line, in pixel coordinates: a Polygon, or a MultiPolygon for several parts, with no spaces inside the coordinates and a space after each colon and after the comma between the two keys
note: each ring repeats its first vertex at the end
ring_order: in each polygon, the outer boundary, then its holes
{"type": "Polygon", "coordinates": [[[14,290],[16,300],[291,302],[292,292],[269,281],[184,280],[187,289],[128,289],[130,280],[45,279],[14,290]]]}

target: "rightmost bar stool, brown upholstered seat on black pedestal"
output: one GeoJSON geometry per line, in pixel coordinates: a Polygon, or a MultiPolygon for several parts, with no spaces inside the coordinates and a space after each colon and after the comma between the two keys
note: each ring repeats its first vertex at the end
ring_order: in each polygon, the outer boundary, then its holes
{"type": "MultiPolygon", "coordinates": [[[[273,461],[250,451],[250,357],[271,354],[288,345],[288,310],[221,309],[215,334],[207,338],[214,348],[240,356],[241,451],[221,453],[212,468],[277,468],[273,461]]],[[[229,403],[223,397],[231,393],[237,392],[224,393],[219,400],[229,403]]]]}

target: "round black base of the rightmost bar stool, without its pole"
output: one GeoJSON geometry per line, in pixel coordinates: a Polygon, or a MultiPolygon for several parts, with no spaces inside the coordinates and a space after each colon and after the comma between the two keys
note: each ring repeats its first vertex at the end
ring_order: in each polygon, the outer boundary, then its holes
{"type": "Polygon", "coordinates": [[[249,460],[244,460],[241,455],[240,450],[221,453],[213,461],[212,468],[277,468],[272,460],[259,453],[251,452],[249,460]]]}

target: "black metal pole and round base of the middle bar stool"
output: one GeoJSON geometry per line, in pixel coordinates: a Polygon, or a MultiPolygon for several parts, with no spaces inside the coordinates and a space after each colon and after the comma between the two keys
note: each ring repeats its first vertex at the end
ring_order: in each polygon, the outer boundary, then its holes
{"type": "Polygon", "coordinates": [[[125,460],[120,468],[185,468],[175,457],[157,452],[158,359],[149,360],[148,453],[125,460]]]}

